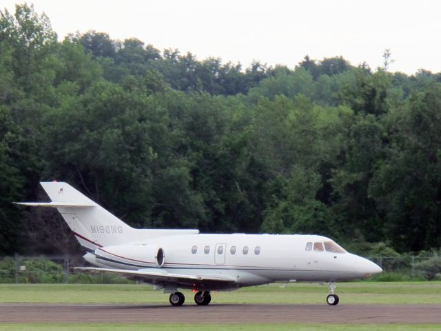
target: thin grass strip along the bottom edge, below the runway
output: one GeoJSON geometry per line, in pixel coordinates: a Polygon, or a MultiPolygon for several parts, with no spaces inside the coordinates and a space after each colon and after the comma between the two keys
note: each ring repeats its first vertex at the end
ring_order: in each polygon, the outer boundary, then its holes
{"type": "Polygon", "coordinates": [[[356,330],[356,331],[372,331],[372,330],[384,330],[384,331],[396,331],[396,330],[440,330],[441,325],[409,325],[409,324],[123,324],[123,323],[48,323],[48,324],[0,324],[0,330],[7,331],[88,331],[88,330],[110,330],[110,331],[167,331],[167,330],[179,330],[179,331],[211,331],[211,330],[223,330],[223,331],[317,331],[317,330],[356,330]]]}

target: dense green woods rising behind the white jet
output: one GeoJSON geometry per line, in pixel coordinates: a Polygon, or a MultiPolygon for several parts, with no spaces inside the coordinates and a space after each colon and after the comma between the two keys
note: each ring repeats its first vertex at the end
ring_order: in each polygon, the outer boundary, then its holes
{"type": "Polygon", "coordinates": [[[137,227],[440,248],[440,82],[342,57],[244,70],[94,31],[58,42],[32,6],[4,10],[0,254],[68,233],[11,203],[52,179],[137,227]]]}

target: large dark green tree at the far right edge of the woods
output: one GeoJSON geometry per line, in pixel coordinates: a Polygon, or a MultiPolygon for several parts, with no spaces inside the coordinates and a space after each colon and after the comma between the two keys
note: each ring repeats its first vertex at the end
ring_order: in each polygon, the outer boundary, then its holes
{"type": "Polygon", "coordinates": [[[391,114],[387,158],[378,161],[369,187],[388,237],[401,251],[441,245],[440,109],[441,88],[431,86],[391,114]]]}

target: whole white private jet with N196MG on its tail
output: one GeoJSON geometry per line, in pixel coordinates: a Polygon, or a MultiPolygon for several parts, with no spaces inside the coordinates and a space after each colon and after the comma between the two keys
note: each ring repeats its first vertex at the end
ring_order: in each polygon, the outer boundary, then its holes
{"type": "Polygon", "coordinates": [[[336,281],[381,272],[375,263],[351,254],[327,237],[278,234],[200,234],[198,230],[134,229],[68,183],[43,182],[52,202],[21,205],[57,208],[88,252],[94,272],[114,272],[151,283],[182,305],[178,288],[190,289],[198,305],[210,291],[236,290],[274,282],[329,283],[327,303],[339,301],[336,281]]]}

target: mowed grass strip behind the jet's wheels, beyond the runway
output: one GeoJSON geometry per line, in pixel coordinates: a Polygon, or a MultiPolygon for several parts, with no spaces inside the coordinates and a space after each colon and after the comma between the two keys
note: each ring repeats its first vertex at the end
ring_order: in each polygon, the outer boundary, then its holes
{"type": "MultiPolygon", "coordinates": [[[[325,303],[327,285],[294,283],[212,292],[213,303],[325,303]]],[[[194,296],[183,291],[187,299],[194,296]]],[[[441,282],[338,283],[341,303],[441,303],[441,282]]],[[[1,303],[168,303],[150,285],[0,284],[1,303]]],[[[192,300],[187,300],[192,303],[192,300]]]]}

